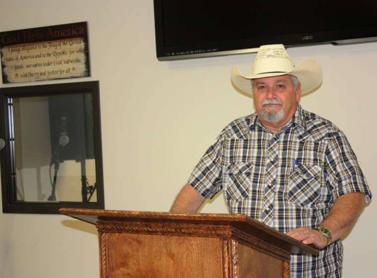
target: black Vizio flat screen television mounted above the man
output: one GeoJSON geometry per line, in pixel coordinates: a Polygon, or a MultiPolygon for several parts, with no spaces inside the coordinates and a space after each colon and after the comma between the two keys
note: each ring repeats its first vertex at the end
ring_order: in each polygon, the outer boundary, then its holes
{"type": "Polygon", "coordinates": [[[377,41],[376,0],[154,0],[159,60],[377,41]]]}

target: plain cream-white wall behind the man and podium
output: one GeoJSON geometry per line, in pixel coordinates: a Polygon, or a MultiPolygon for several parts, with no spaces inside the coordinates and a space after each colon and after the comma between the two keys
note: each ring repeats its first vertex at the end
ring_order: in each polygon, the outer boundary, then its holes
{"type": "MultiPolygon", "coordinates": [[[[106,209],[168,211],[223,126],[253,111],[230,69],[251,72],[255,54],[160,62],[155,57],[152,0],[0,0],[0,32],[87,21],[92,77],[100,81],[106,209]]],[[[292,48],[296,63],[315,59],[321,88],[304,109],[348,136],[377,194],[377,43],[292,48]]],[[[223,197],[202,212],[226,213],[223,197]]],[[[375,201],[344,240],[343,278],[377,273],[375,201]]],[[[99,277],[94,226],[60,215],[0,213],[1,278],[99,277]]]]}

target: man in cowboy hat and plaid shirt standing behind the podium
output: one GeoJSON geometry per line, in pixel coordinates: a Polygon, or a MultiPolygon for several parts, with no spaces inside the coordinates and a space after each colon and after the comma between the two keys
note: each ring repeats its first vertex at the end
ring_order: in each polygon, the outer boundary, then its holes
{"type": "Polygon", "coordinates": [[[343,132],[299,104],[321,84],[320,66],[309,60],[295,67],[284,46],[262,46],[252,75],[233,67],[231,78],[252,94],[256,112],[223,129],[171,212],[196,212],[223,189],[230,213],[320,249],[319,256],[292,255],[292,278],[341,277],[340,237],[372,193],[343,132]]]}

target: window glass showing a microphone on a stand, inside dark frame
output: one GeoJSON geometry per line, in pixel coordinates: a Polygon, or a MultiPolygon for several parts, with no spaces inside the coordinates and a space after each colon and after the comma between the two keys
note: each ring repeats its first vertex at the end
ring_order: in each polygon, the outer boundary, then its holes
{"type": "Polygon", "coordinates": [[[91,104],[91,94],[12,99],[17,201],[97,201],[91,104]]]}

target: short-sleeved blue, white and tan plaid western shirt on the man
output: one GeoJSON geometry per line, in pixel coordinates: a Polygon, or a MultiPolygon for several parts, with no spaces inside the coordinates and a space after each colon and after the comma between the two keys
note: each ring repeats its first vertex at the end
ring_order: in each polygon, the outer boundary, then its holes
{"type": "MultiPolygon", "coordinates": [[[[202,196],[224,189],[229,211],[246,214],[283,233],[316,229],[336,199],[364,192],[367,181],[347,138],[330,121],[299,105],[274,134],[256,113],[227,125],[188,179],[202,196]]],[[[341,240],[312,255],[292,255],[292,278],[341,277],[341,240]]]]}

